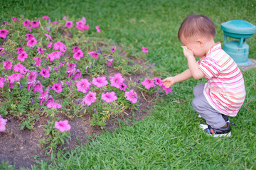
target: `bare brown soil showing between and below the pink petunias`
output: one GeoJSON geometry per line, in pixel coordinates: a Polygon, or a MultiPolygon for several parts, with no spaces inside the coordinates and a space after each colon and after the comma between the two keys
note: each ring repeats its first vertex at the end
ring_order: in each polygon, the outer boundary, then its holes
{"type": "MultiPolygon", "coordinates": [[[[132,74],[130,76],[124,76],[126,81],[138,82],[139,79],[143,80],[146,76],[153,77],[151,69],[148,65],[144,64],[142,60],[134,59],[134,62],[142,65],[142,67],[146,68],[147,71],[136,75],[132,74]]],[[[117,72],[118,70],[108,68],[107,77],[113,76],[117,72]]],[[[127,84],[128,82],[124,83],[127,84]]],[[[145,93],[142,94],[142,92],[137,89],[135,89],[135,91],[138,91],[137,98],[139,101],[139,111],[134,111],[136,116],[133,117],[131,111],[125,111],[122,118],[110,118],[110,120],[107,120],[105,130],[113,131],[117,128],[118,119],[122,119],[124,123],[127,123],[127,118],[142,120],[145,116],[150,114],[149,109],[153,105],[153,96],[157,97],[158,95],[154,94],[147,96],[145,93]]],[[[63,118],[63,120],[68,119],[64,114],[60,115],[60,117],[63,118]]],[[[100,135],[102,133],[102,129],[100,127],[92,127],[92,125],[90,125],[90,118],[90,115],[86,115],[83,119],[68,119],[68,122],[72,127],[70,130],[71,139],[69,140],[70,145],[65,143],[64,147],[67,147],[68,150],[70,150],[78,146],[79,142],[84,145],[87,142],[88,136],[94,137],[95,135],[100,135]],[[79,142],[76,138],[79,139],[79,142]]],[[[46,151],[38,147],[38,145],[40,145],[38,140],[46,138],[43,125],[47,124],[47,119],[42,117],[38,120],[34,125],[34,130],[20,130],[20,126],[18,125],[21,123],[21,120],[18,120],[14,116],[9,115],[7,116],[7,119],[6,131],[0,133],[0,160],[9,162],[11,165],[15,165],[16,169],[20,169],[21,167],[31,168],[33,164],[36,164],[36,159],[33,156],[37,156],[37,160],[39,161],[48,161],[50,157],[45,154],[46,151]]]]}

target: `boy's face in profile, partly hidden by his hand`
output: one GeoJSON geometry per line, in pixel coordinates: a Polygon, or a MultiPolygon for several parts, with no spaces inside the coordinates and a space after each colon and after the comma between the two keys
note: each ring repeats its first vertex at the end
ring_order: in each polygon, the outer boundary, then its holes
{"type": "Polygon", "coordinates": [[[183,36],[181,36],[181,43],[188,47],[189,50],[193,51],[193,55],[196,57],[201,58],[206,55],[203,42],[197,38],[183,38],[183,36]]]}

